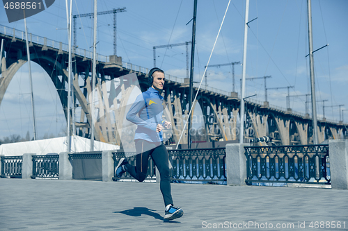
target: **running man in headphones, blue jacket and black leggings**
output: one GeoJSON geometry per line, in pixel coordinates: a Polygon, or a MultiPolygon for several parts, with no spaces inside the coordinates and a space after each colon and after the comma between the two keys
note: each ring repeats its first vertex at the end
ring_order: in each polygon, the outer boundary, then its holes
{"type": "Polygon", "coordinates": [[[161,176],[160,189],[166,207],[164,219],[180,218],[184,211],[174,207],[171,196],[171,179],[169,177],[168,151],[163,143],[163,128],[171,128],[171,122],[164,121],[161,92],[164,86],[164,71],[155,67],[149,71],[149,89],[140,94],[127,113],[126,119],[135,123],[134,142],[136,146],[136,166],[129,164],[126,158],[120,159],[116,166],[116,176],[122,177],[126,171],[136,180],[145,180],[148,172],[148,160],[151,155],[161,176]]]}

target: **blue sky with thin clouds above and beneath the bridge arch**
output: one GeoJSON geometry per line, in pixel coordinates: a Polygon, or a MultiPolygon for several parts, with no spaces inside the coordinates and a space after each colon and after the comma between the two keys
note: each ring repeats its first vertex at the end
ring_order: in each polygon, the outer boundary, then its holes
{"type": "MultiPolygon", "coordinates": [[[[200,0],[197,6],[196,51],[194,81],[203,78],[216,36],[228,6],[228,0],[200,0]]],[[[93,1],[74,0],[73,15],[93,12],[93,1]]],[[[117,55],[122,62],[141,67],[153,67],[153,46],[177,44],[192,39],[193,1],[189,0],[99,0],[97,11],[126,8],[117,14],[117,55]]],[[[313,49],[317,116],[339,121],[335,105],[348,109],[348,1],[313,0],[313,49]],[[329,107],[333,105],[335,107],[329,107]]],[[[230,1],[209,65],[221,65],[243,60],[245,1],[230,1]]],[[[308,24],[306,0],[251,0],[249,6],[246,78],[267,78],[267,99],[270,105],[286,108],[287,88],[290,88],[290,108],[305,113],[306,97],[310,93],[308,24]],[[257,18],[257,19],[255,19],[257,18]],[[274,89],[280,87],[280,89],[274,89]]],[[[113,54],[113,15],[97,17],[97,53],[113,54]]],[[[24,31],[24,20],[8,23],[5,10],[0,8],[0,24],[24,31]]],[[[34,35],[68,44],[65,1],[55,3],[27,19],[28,31],[34,35]]],[[[93,18],[77,19],[77,45],[92,51],[93,18]]],[[[189,47],[191,51],[191,46],[189,47]]],[[[186,47],[157,49],[157,67],[166,74],[186,78],[186,47]]],[[[38,137],[64,135],[66,122],[58,94],[48,74],[31,62],[33,94],[38,137]]],[[[240,94],[242,66],[235,65],[235,91],[240,94]]],[[[203,80],[205,85],[205,80],[203,80]]],[[[207,85],[232,92],[232,66],[207,68],[207,85]]],[[[9,135],[32,136],[31,100],[28,67],[24,65],[11,81],[0,105],[0,139],[9,135]]],[[[264,80],[246,80],[246,96],[263,102],[264,80]]],[[[309,104],[308,104],[309,105],[309,104]]]]}

